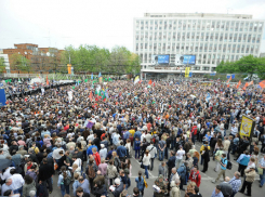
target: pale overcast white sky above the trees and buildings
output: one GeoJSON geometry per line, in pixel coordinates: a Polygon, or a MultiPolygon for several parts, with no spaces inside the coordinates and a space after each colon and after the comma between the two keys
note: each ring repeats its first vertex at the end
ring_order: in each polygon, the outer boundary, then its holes
{"type": "MultiPolygon", "coordinates": [[[[36,43],[64,49],[96,44],[133,50],[133,18],[146,12],[252,14],[265,0],[0,0],[0,49],[36,43]]],[[[265,52],[265,35],[261,52],[265,52]]]]}

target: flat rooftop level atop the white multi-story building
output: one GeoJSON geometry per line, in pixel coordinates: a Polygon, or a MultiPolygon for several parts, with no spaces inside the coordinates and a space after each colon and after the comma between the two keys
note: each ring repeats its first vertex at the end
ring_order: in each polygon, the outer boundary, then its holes
{"type": "Polygon", "coordinates": [[[231,18],[252,19],[248,14],[214,14],[214,13],[145,13],[145,17],[203,17],[203,18],[231,18]]]}

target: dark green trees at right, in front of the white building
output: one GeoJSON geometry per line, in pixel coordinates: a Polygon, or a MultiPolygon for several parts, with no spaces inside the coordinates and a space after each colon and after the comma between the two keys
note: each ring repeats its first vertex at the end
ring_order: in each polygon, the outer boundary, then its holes
{"type": "Polygon", "coordinates": [[[216,67],[216,71],[223,74],[257,74],[260,79],[264,79],[265,57],[248,55],[236,62],[221,62],[216,67]]]}

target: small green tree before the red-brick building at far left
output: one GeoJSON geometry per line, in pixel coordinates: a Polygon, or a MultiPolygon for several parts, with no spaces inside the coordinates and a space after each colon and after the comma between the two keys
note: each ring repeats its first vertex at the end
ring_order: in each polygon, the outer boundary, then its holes
{"type": "Polygon", "coordinates": [[[25,56],[14,53],[10,56],[10,65],[11,69],[19,71],[27,71],[31,70],[30,61],[27,60],[25,56]]]}

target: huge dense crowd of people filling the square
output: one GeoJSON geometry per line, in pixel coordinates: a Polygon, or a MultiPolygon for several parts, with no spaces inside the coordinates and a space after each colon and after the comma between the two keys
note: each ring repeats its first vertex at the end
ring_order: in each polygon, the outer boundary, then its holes
{"type": "Polygon", "coordinates": [[[12,97],[0,116],[1,194],[47,197],[56,174],[63,197],[201,197],[201,172],[214,162],[212,197],[246,187],[251,196],[256,175],[260,187],[265,182],[264,97],[255,86],[220,81],[82,82],[12,97]],[[242,116],[255,122],[249,136],[240,136],[242,116]],[[132,159],[143,169],[134,180],[132,159]],[[233,159],[238,171],[230,179],[233,159]]]}

